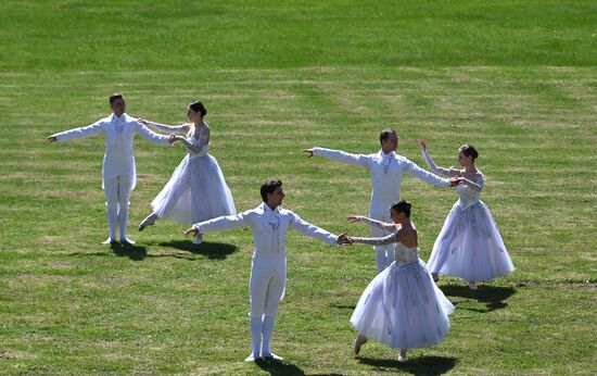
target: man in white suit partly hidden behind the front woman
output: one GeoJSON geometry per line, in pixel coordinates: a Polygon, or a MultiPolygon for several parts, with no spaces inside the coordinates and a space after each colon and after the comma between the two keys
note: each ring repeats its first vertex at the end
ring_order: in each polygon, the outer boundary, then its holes
{"type": "MultiPolygon", "coordinates": [[[[394,129],[383,129],[379,137],[381,150],[376,154],[352,154],[340,150],[313,148],[303,152],[308,156],[321,155],[332,161],[367,167],[371,175],[371,201],[369,217],[382,222],[392,222],[390,206],[401,199],[403,173],[408,172],[429,184],[449,187],[449,179],[429,173],[405,156],[396,154],[398,134],[394,129]]],[[[384,236],[382,229],[371,226],[371,237],[384,236]]],[[[378,273],[394,261],[394,246],[374,246],[378,273]]]]}

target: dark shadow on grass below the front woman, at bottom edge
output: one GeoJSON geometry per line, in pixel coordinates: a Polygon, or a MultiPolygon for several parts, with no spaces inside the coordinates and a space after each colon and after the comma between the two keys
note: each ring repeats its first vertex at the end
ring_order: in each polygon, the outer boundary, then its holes
{"type": "Polygon", "coordinates": [[[407,372],[411,375],[443,375],[456,365],[455,358],[418,356],[402,363],[394,359],[359,358],[359,363],[374,366],[379,371],[407,372]]]}

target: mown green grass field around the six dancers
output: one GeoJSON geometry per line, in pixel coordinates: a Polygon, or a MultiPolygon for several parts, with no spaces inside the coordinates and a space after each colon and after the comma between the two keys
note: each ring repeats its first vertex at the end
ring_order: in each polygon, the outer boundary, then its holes
{"type": "MultiPolygon", "coordinates": [[[[597,4],[592,1],[0,2],[0,374],[594,374],[597,368],[597,4]],[[284,206],[331,231],[366,214],[365,170],[313,146],[441,165],[480,151],[483,200],[517,271],[456,304],[439,347],[367,343],[348,318],[376,274],[368,247],[289,234],[282,364],[246,364],[247,229],[200,247],[183,225],[137,234],[185,155],[138,139],[130,248],[106,237],[103,138],[46,145],[110,113],[185,121],[202,100],[239,210],[268,177],[284,206]]],[[[406,177],[427,261],[456,193],[406,177]]]]}

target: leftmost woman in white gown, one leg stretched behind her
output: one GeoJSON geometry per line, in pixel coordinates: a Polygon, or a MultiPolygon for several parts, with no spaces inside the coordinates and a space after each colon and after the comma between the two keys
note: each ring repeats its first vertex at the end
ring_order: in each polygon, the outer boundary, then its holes
{"type": "MultiPolygon", "coordinates": [[[[206,114],[203,103],[193,102],[187,110],[187,116],[192,124],[169,126],[139,120],[154,129],[170,133],[173,142],[180,141],[189,150],[169,181],[151,202],[153,212],[141,222],[140,231],[155,224],[157,218],[193,224],[237,214],[232,193],[218,162],[208,153],[209,126],[204,121],[206,114]]],[[[193,242],[201,243],[201,235],[193,242]]]]}

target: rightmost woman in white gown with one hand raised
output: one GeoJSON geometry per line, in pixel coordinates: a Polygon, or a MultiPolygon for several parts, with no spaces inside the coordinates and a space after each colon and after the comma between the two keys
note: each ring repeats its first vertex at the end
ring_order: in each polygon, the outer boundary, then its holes
{"type": "Polygon", "coordinates": [[[515,265],[499,229],[480,199],[484,177],[474,164],[478,151],[470,145],[461,146],[458,162],[463,168],[444,168],[433,163],[423,140],[417,140],[417,143],[431,171],[461,180],[456,187],[459,200],[448,213],[428,262],[433,278],[437,280],[440,274],[450,275],[465,279],[471,289],[477,289],[480,280],[512,273],[515,265]]]}

